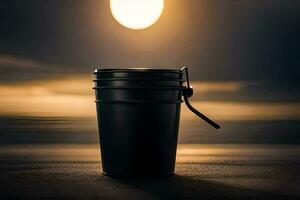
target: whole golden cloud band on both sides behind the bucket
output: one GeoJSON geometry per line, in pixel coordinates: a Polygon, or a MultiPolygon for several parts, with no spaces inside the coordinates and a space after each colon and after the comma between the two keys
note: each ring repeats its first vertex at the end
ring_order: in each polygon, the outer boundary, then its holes
{"type": "MultiPolygon", "coordinates": [[[[299,119],[300,99],[263,82],[192,81],[192,105],[213,119],[299,119]],[[291,102],[293,101],[293,102],[291,102]]],[[[92,76],[0,84],[0,115],[95,116],[92,76]]],[[[195,118],[183,106],[183,118],[195,118]]]]}

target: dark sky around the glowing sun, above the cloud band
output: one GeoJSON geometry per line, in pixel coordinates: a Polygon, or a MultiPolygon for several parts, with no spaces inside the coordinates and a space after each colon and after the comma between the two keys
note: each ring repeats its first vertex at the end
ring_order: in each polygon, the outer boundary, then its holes
{"type": "Polygon", "coordinates": [[[9,0],[0,28],[2,82],[188,65],[197,80],[300,88],[297,0],[166,0],[159,21],[139,31],[119,25],[108,0],[9,0]]]}

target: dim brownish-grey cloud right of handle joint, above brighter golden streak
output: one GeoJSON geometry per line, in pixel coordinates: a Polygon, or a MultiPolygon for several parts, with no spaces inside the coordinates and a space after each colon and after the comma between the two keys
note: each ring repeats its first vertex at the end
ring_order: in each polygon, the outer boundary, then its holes
{"type": "Polygon", "coordinates": [[[195,101],[297,102],[297,87],[272,81],[192,81],[195,101]]]}

